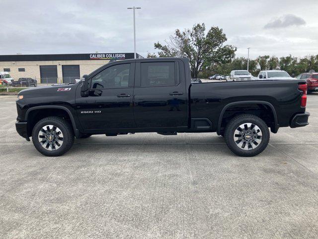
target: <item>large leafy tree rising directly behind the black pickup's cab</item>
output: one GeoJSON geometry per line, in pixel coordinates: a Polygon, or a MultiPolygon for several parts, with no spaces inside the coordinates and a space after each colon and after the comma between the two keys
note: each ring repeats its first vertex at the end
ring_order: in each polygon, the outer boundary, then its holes
{"type": "MultiPolygon", "coordinates": [[[[205,33],[205,24],[195,24],[191,29],[180,31],[165,41],[165,45],[155,43],[159,57],[187,57],[190,60],[191,77],[197,78],[198,73],[214,64],[231,62],[235,57],[236,47],[224,45],[227,41],[223,29],[212,26],[205,33]]],[[[154,55],[148,53],[148,56],[154,55]]]]}

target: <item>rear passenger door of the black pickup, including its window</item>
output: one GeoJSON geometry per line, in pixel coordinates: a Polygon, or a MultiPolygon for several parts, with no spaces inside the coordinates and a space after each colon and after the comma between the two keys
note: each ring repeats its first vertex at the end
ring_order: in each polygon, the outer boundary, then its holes
{"type": "Polygon", "coordinates": [[[149,60],[136,63],[134,119],[138,128],[186,127],[186,99],[182,61],[149,60]]]}

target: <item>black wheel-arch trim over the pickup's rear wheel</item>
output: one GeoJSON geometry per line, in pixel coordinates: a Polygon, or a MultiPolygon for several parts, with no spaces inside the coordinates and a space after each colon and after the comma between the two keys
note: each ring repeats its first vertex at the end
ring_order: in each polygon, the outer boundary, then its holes
{"type": "Polygon", "coordinates": [[[238,102],[229,103],[222,109],[221,114],[219,116],[219,121],[218,121],[218,128],[217,128],[217,134],[218,135],[221,134],[221,124],[222,124],[222,119],[223,119],[223,115],[224,115],[225,111],[231,106],[243,105],[243,104],[261,104],[261,105],[269,106],[269,108],[273,112],[274,122],[275,122],[274,128],[273,129],[271,128],[271,131],[273,133],[277,133],[278,128],[279,128],[278,119],[277,119],[277,113],[276,113],[275,107],[271,103],[266,102],[266,101],[238,101],[238,102]]]}

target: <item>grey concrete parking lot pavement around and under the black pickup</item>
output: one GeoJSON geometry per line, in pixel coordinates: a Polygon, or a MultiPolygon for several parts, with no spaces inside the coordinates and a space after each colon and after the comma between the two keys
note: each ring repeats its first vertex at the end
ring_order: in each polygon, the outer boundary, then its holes
{"type": "Polygon", "coordinates": [[[318,238],[318,93],[310,125],[251,158],[216,133],[94,135],[45,157],[15,99],[0,96],[0,238],[318,238]]]}

